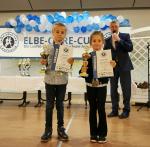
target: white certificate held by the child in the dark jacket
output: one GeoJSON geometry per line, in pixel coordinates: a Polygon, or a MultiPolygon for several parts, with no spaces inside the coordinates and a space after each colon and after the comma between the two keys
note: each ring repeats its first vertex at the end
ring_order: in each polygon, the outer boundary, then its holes
{"type": "Polygon", "coordinates": [[[97,60],[97,77],[112,77],[113,67],[110,64],[112,60],[111,50],[102,50],[96,52],[96,60],[97,60]]]}

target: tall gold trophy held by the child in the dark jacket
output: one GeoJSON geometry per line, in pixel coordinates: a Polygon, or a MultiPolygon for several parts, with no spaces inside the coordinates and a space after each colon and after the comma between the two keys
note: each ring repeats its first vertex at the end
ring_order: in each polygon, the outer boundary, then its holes
{"type": "MultiPolygon", "coordinates": [[[[87,70],[87,65],[88,65],[88,61],[87,61],[87,60],[88,60],[88,58],[90,57],[90,54],[88,53],[89,49],[90,49],[89,46],[85,46],[85,48],[84,48],[84,51],[85,51],[84,55],[85,55],[85,56],[83,56],[82,69],[85,69],[85,70],[87,70]]],[[[88,74],[86,73],[85,70],[82,71],[82,69],[81,69],[80,76],[81,76],[81,77],[87,77],[88,74]]]]}

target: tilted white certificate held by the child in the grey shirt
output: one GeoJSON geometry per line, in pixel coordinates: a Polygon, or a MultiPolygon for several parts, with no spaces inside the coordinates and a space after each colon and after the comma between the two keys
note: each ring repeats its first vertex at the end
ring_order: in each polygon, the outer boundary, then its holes
{"type": "Polygon", "coordinates": [[[69,72],[71,64],[68,63],[68,59],[73,56],[73,49],[66,45],[61,45],[57,56],[56,71],[69,72]]]}

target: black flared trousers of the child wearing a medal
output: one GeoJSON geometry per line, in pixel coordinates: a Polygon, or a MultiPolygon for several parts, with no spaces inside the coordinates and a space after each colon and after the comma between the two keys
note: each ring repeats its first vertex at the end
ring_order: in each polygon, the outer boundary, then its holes
{"type": "Polygon", "coordinates": [[[107,121],[105,113],[106,94],[106,86],[98,88],[87,86],[87,96],[90,105],[89,123],[91,136],[107,136],[107,121]],[[99,120],[97,120],[97,110],[99,120]]]}

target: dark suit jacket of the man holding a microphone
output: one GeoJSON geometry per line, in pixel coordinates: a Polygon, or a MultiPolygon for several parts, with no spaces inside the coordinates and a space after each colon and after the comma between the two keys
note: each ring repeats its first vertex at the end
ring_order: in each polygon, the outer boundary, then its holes
{"type": "Polygon", "coordinates": [[[112,44],[112,37],[105,40],[105,49],[111,49],[112,59],[118,64],[121,71],[129,71],[133,69],[133,65],[128,52],[133,50],[133,44],[130,35],[119,33],[120,41],[115,42],[115,49],[112,44]]]}

